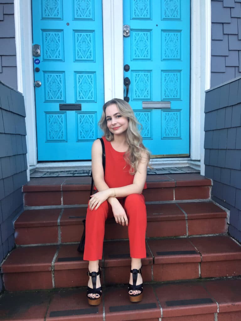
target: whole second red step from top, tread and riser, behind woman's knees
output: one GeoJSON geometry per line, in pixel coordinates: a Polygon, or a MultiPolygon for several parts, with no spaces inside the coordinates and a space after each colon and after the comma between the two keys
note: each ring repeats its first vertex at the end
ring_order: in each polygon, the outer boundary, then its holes
{"type": "MultiPolygon", "coordinates": [[[[15,221],[17,245],[80,241],[86,207],[26,210],[15,221]],[[59,222],[59,223],[58,223],[59,222]]],[[[227,213],[211,202],[147,204],[147,238],[221,234],[227,213]]],[[[105,239],[128,239],[127,227],[106,221],[105,239]]]]}

